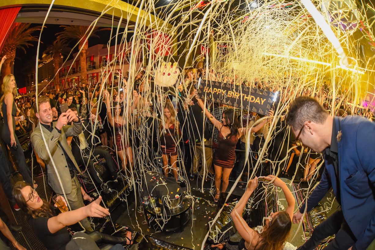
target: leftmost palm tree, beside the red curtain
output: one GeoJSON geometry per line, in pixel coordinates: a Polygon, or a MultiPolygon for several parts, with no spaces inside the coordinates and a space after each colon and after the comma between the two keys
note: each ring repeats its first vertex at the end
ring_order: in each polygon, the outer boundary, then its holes
{"type": "Polygon", "coordinates": [[[6,37],[3,50],[1,51],[0,57],[6,55],[3,67],[1,68],[1,79],[7,74],[12,72],[12,65],[14,64],[14,58],[16,57],[16,49],[22,49],[25,53],[25,46],[33,46],[32,41],[37,41],[38,37],[32,34],[35,31],[40,30],[42,27],[32,27],[31,24],[15,22],[9,30],[8,36],[6,37]]]}

